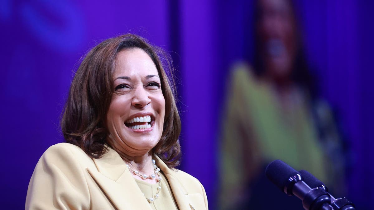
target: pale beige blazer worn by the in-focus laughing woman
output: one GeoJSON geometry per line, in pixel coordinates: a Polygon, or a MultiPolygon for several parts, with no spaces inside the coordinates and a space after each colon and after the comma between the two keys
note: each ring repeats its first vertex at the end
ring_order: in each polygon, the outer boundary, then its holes
{"type": "MultiPolygon", "coordinates": [[[[25,209],[151,210],[122,158],[108,149],[101,158],[92,159],[69,143],[48,148],[31,177],[25,209]]],[[[196,178],[155,160],[180,210],[208,209],[205,190],[196,178]]]]}

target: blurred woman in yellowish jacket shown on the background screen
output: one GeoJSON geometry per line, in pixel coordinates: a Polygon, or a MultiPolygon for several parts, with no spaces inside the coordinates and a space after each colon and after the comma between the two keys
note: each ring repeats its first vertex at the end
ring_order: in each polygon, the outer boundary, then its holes
{"type": "MultiPolygon", "coordinates": [[[[254,11],[252,65],[234,65],[227,91],[219,206],[292,209],[282,205],[290,198],[278,191],[273,196],[277,189],[264,177],[264,168],[281,159],[341,192],[340,136],[307,65],[292,1],[257,0],[254,11]]],[[[295,208],[302,209],[296,202],[295,208]]]]}

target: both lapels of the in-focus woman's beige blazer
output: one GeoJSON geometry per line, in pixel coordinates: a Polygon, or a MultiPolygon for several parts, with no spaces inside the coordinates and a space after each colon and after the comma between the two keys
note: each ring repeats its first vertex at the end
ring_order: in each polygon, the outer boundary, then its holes
{"type": "MultiPolygon", "coordinates": [[[[126,167],[120,155],[108,147],[108,152],[101,158],[93,159],[97,169],[87,168],[89,174],[103,189],[117,209],[151,209],[131,172],[126,167]]],[[[169,169],[166,164],[155,156],[157,166],[168,179],[172,193],[180,210],[191,210],[186,202],[188,192],[183,184],[175,177],[176,169],[169,169]]]]}

